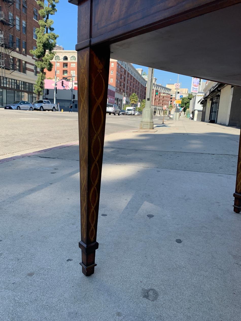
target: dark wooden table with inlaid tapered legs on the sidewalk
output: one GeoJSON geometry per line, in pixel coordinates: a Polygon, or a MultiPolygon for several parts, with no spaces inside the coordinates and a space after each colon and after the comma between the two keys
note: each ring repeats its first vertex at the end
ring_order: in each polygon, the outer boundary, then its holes
{"type": "MultiPolygon", "coordinates": [[[[241,0],[69,2],[78,6],[79,247],[82,272],[88,276],[94,273],[98,248],[110,57],[241,86],[241,0]]],[[[238,154],[236,213],[241,210],[241,145],[238,154]]]]}

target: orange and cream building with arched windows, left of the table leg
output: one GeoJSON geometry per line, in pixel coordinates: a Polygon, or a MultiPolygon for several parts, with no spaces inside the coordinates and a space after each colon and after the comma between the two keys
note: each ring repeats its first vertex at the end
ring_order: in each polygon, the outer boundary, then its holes
{"type": "Polygon", "coordinates": [[[66,77],[69,77],[71,80],[71,76],[74,76],[74,83],[77,83],[77,52],[75,50],[55,50],[55,57],[51,62],[53,64],[52,70],[48,71],[45,69],[47,79],[54,79],[56,64],[57,81],[66,77]]]}

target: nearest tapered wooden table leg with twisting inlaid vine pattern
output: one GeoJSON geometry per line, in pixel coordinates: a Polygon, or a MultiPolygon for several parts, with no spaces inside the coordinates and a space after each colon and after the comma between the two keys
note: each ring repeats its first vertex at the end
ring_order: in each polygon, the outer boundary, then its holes
{"type": "Polygon", "coordinates": [[[94,273],[110,64],[108,46],[78,51],[78,125],[82,272],[94,273]]]}

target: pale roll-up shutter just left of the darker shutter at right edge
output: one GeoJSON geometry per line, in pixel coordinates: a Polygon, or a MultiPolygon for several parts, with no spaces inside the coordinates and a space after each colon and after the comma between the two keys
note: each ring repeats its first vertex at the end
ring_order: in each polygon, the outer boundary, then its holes
{"type": "Polygon", "coordinates": [[[219,99],[219,110],[217,124],[227,125],[228,106],[231,98],[231,86],[227,85],[221,89],[219,99]]]}

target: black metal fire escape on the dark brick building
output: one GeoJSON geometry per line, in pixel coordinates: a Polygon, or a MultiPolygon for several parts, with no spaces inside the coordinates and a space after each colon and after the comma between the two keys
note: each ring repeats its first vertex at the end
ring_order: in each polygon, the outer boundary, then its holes
{"type": "MultiPolygon", "coordinates": [[[[0,11],[0,69],[2,77],[5,77],[5,69],[16,70],[16,64],[13,63],[11,52],[16,48],[16,43],[13,42],[13,36],[10,30],[15,26],[15,19],[13,13],[10,11],[14,0],[3,0],[5,10],[1,8],[0,11]]],[[[11,73],[12,73],[11,72],[11,73]]]]}

